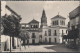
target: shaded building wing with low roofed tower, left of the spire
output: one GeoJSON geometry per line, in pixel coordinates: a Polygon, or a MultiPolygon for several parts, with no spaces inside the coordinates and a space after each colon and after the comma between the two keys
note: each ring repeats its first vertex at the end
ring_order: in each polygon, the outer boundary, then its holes
{"type": "Polygon", "coordinates": [[[39,43],[39,22],[33,19],[29,23],[21,24],[22,30],[27,30],[29,33],[29,40],[25,41],[25,44],[38,44],[39,43]]]}

